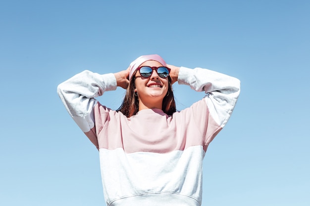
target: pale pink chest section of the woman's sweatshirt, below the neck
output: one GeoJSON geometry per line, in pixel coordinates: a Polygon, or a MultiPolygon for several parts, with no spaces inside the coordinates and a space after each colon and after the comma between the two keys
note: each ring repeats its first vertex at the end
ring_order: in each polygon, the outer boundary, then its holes
{"type": "Polygon", "coordinates": [[[127,118],[100,103],[94,115],[99,148],[123,148],[125,153],[168,153],[197,145],[206,151],[207,139],[221,129],[210,117],[204,99],[172,117],[159,109],[146,109],[127,118]]]}

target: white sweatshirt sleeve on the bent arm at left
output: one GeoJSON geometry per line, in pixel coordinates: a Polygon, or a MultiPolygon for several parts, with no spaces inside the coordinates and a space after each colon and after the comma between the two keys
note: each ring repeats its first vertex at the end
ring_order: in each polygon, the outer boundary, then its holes
{"type": "Polygon", "coordinates": [[[93,108],[98,102],[95,97],[103,95],[104,91],[115,90],[116,86],[112,73],[100,75],[85,70],[57,87],[57,93],[66,110],[94,144],[97,140],[89,132],[95,131],[93,108]]]}

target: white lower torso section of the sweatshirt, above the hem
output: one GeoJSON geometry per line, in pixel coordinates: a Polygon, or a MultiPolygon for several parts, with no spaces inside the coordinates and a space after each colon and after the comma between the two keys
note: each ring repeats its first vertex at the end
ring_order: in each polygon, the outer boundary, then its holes
{"type": "MultiPolygon", "coordinates": [[[[107,204],[144,194],[172,193],[201,203],[202,146],[158,154],[100,149],[104,197],[107,204]]],[[[157,203],[158,204],[158,203],[157,203]]]]}

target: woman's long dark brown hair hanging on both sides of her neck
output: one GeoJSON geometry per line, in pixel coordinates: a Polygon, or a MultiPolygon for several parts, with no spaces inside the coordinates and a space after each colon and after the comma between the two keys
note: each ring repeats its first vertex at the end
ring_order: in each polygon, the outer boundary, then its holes
{"type": "MultiPolygon", "coordinates": [[[[135,80],[136,77],[135,75],[133,75],[127,87],[123,103],[116,110],[117,112],[123,113],[123,115],[125,115],[127,118],[136,115],[139,111],[139,99],[137,94],[135,95],[134,91],[134,89],[136,88],[135,80]]],[[[167,115],[172,115],[174,112],[176,112],[170,76],[168,77],[168,91],[166,96],[162,100],[162,111],[167,115]]]]}

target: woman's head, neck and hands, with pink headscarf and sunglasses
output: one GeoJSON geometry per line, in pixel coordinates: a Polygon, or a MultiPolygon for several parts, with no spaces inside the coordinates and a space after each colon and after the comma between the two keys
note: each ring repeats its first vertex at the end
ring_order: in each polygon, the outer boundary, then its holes
{"type": "Polygon", "coordinates": [[[140,110],[155,108],[172,115],[176,111],[172,83],[177,80],[180,68],[170,67],[158,55],[145,55],[133,61],[125,72],[116,73],[118,82],[127,82],[128,72],[130,79],[124,101],[117,111],[128,118],[140,110]]]}

